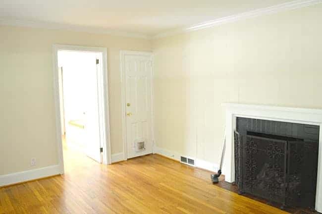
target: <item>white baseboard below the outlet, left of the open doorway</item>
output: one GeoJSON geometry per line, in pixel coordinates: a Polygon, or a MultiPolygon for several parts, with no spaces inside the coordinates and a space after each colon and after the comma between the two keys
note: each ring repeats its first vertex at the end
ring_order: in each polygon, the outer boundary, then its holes
{"type": "Polygon", "coordinates": [[[21,183],[38,178],[60,174],[59,165],[52,165],[28,171],[0,175],[0,186],[21,183]]]}

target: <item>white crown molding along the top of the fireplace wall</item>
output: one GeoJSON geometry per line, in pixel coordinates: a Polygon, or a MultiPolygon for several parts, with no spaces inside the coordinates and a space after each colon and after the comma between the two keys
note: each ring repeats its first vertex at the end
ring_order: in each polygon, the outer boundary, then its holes
{"type": "Polygon", "coordinates": [[[185,33],[185,32],[190,32],[190,31],[196,31],[196,30],[201,30],[205,28],[211,28],[217,25],[221,25],[224,23],[229,23],[229,22],[235,22],[241,19],[247,19],[247,18],[253,18],[253,17],[258,17],[262,15],[267,15],[267,14],[272,14],[272,13],[277,13],[280,11],[285,11],[285,10],[291,10],[291,9],[296,9],[296,8],[301,8],[301,7],[306,7],[314,4],[322,3],[322,0],[294,0],[294,1],[289,1],[286,3],[282,4],[276,4],[273,6],[269,7],[264,7],[260,9],[255,9],[251,10],[248,12],[243,12],[243,13],[238,13],[235,15],[230,15],[222,18],[218,18],[215,20],[207,21],[207,22],[202,22],[196,25],[192,25],[186,28],[181,28],[181,29],[176,29],[172,31],[167,31],[161,34],[157,34],[152,37],[152,39],[158,39],[158,38],[164,38],[180,33],[185,33]]]}

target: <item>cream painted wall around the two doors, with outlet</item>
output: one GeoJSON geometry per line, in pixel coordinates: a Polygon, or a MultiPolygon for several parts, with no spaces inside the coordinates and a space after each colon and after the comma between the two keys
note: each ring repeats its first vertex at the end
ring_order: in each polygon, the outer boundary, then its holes
{"type": "Polygon", "coordinates": [[[107,48],[111,152],[122,152],[119,51],[151,51],[151,41],[0,26],[0,175],[58,164],[53,44],[107,48]]]}

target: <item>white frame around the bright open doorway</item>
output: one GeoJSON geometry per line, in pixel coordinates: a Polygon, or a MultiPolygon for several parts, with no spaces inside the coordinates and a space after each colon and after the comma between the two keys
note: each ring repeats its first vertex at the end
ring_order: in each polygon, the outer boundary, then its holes
{"type": "Polygon", "coordinates": [[[103,163],[111,163],[110,151],[110,125],[109,125],[109,104],[108,104],[108,75],[107,75],[107,49],[101,47],[87,47],[87,46],[71,46],[71,45],[53,45],[53,72],[54,72],[54,105],[55,105],[55,128],[56,128],[56,143],[57,143],[57,157],[60,174],[64,174],[64,159],[62,150],[62,133],[61,133],[61,119],[60,119],[60,102],[62,95],[59,93],[59,69],[58,69],[58,51],[76,51],[76,52],[94,52],[102,54],[102,68],[100,78],[103,79],[103,114],[105,127],[103,136],[103,163]]]}

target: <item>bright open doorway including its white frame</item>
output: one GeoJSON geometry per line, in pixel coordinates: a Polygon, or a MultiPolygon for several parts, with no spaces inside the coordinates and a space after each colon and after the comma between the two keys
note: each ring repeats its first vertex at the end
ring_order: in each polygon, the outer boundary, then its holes
{"type": "Polygon", "coordinates": [[[61,174],[76,159],[109,164],[106,49],[54,46],[54,63],[61,174]]]}

